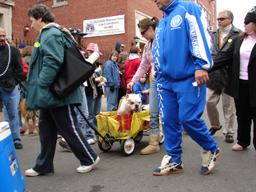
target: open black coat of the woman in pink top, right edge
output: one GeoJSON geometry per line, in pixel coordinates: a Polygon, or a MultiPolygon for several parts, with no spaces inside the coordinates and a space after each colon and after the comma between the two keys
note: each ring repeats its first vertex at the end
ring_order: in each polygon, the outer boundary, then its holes
{"type": "MultiPolygon", "coordinates": [[[[239,99],[239,74],[240,74],[240,47],[243,39],[236,37],[232,44],[221,56],[216,56],[214,66],[211,71],[218,70],[221,67],[231,65],[230,74],[228,76],[225,93],[239,99]]],[[[250,106],[256,107],[256,44],[254,45],[250,61],[248,63],[248,83],[250,90],[250,106]]]]}

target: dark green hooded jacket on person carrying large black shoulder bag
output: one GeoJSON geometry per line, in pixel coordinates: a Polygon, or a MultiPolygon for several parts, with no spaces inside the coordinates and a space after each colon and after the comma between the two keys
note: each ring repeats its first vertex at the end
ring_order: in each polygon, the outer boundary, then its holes
{"type": "Polygon", "coordinates": [[[36,39],[29,64],[26,109],[50,109],[68,104],[81,104],[81,88],[59,99],[51,84],[64,60],[65,49],[74,45],[72,39],[54,26],[46,26],[36,39]]]}

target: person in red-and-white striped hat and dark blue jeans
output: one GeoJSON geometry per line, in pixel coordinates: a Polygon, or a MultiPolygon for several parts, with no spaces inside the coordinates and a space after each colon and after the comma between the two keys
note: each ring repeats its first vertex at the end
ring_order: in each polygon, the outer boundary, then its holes
{"type": "MultiPolygon", "coordinates": [[[[87,46],[86,52],[88,53],[88,57],[93,54],[95,44],[91,43],[87,46]]],[[[103,86],[100,85],[100,82],[107,82],[105,77],[102,77],[101,74],[101,63],[95,61],[93,63],[95,65],[95,71],[92,77],[87,80],[87,86],[85,86],[85,93],[88,105],[88,122],[93,125],[95,129],[97,129],[97,119],[96,116],[99,115],[101,109],[101,100],[103,93],[103,86]]],[[[85,130],[85,138],[89,144],[94,144],[95,141],[99,141],[99,135],[95,132],[95,138],[93,140],[92,128],[88,124],[84,124],[85,130]]]]}

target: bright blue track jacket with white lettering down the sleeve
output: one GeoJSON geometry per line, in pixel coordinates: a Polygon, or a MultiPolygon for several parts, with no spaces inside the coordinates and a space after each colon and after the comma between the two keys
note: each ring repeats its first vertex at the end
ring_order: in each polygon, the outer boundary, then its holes
{"type": "Polygon", "coordinates": [[[153,49],[157,75],[175,81],[194,76],[198,69],[210,70],[212,40],[204,10],[193,2],[173,0],[163,12],[153,49]]]}

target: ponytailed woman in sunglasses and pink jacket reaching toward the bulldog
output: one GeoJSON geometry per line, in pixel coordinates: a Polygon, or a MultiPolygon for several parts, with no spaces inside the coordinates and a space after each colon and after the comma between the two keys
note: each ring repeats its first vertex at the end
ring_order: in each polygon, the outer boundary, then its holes
{"type": "Polygon", "coordinates": [[[142,155],[152,154],[159,152],[159,113],[158,113],[158,104],[157,104],[157,94],[155,88],[156,77],[154,77],[154,59],[152,55],[152,49],[154,46],[155,40],[155,30],[159,19],[153,17],[152,19],[143,19],[138,23],[138,28],[140,29],[141,36],[143,36],[148,42],[144,47],[142,61],[140,67],[138,68],[136,74],[132,77],[132,80],[127,84],[127,90],[131,90],[132,86],[140,81],[140,77],[143,76],[148,67],[152,66],[152,81],[150,83],[150,92],[149,92],[149,145],[146,148],[143,148],[140,152],[142,155]]]}

